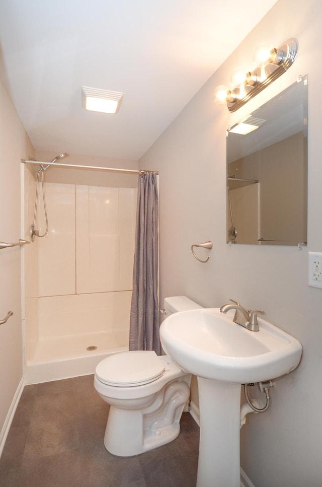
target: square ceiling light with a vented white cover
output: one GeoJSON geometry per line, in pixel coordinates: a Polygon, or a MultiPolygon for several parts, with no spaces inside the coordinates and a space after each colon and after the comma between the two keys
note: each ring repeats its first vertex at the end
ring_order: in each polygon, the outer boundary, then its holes
{"type": "Polygon", "coordinates": [[[103,113],[117,113],[123,98],[123,93],[117,91],[98,90],[97,88],[82,88],[82,106],[86,110],[103,113]]]}

